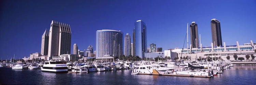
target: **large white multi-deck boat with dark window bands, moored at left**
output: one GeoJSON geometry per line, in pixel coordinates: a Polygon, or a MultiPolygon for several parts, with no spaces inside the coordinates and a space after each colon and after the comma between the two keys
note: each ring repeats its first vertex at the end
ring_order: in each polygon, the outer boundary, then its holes
{"type": "Polygon", "coordinates": [[[61,61],[48,61],[45,62],[43,68],[41,69],[43,72],[52,72],[52,73],[67,73],[68,67],[67,62],[61,61]]]}

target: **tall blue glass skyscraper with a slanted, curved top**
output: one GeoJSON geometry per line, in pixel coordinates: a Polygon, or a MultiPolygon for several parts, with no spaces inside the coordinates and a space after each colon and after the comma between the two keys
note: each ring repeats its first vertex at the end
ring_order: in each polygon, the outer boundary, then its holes
{"type": "Polygon", "coordinates": [[[143,58],[143,53],[147,52],[147,26],[146,23],[138,20],[134,23],[135,56],[143,58]]]}

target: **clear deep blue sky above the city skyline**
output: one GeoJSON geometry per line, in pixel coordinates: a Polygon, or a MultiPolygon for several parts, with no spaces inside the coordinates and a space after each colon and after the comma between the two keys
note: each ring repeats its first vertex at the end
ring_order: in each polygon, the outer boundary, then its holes
{"type": "MultiPolygon", "coordinates": [[[[187,23],[195,21],[203,46],[212,42],[213,18],[221,21],[226,45],[256,42],[255,0],[0,0],[2,59],[41,52],[41,37],[52,20],[70,24],[73,44],[96,49],[96,31],[121,30],[132,36],[134,22],[147,24],[147,44],[182,48],[187,23]]],[[[190,39],[189,39],[190,42],[190,39]]],[[[73,52],[71,52],[73,53],[73,52]]]]}

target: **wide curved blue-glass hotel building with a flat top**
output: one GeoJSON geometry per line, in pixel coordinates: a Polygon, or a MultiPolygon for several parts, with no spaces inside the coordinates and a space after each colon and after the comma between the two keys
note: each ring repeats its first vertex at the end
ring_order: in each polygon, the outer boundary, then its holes
{"type": "Polygon", "coordinates": [[[96,58],[123,55],[123,33],[116,30],[96,31],[96,58]]]}

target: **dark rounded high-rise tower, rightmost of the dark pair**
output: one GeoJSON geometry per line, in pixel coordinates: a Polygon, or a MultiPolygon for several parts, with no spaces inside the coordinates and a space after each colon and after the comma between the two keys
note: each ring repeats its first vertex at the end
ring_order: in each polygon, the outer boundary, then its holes
{"type": "Polygon", "coordinates": [[[222,46],[221,22],[217,19],[211,20],[213,46],[222,46]]]}

